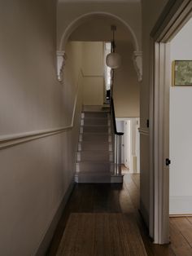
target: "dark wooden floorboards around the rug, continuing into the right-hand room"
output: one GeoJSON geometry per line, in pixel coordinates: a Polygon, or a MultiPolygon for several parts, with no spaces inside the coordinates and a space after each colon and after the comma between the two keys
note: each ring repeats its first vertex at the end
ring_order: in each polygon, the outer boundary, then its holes
{"type": "Polygon", "coordinates": [[[136,218],[147,255],[192,256],[192,218],[170,218],[171,243],[169,245],[154,245],[149,239],[138,212],[139,183],[139,174],[124,174],[122,185],[76,184],[46,255],[57,254],[70,214],[124,213],[133,214],[136,218]]]}

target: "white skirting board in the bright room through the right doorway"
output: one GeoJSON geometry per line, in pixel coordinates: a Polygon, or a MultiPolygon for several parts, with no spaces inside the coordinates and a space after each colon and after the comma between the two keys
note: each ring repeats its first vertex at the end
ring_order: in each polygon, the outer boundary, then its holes
{"type": "Polygon", "coordinates": [[[170,196],[169,197],[169,215],[192,214],[192,196],[170,196]]]}

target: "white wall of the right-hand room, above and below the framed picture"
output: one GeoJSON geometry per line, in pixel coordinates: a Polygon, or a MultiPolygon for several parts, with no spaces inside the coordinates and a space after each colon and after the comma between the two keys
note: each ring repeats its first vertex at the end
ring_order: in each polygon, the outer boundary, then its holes
{"type": "MultiPolygon", "coordinates": [[[[172,39],[172,60],[192,60],[192,19],[172,39]]],[[[192,87],[170,87],[170,214],[192,214],[192,87]]]]}

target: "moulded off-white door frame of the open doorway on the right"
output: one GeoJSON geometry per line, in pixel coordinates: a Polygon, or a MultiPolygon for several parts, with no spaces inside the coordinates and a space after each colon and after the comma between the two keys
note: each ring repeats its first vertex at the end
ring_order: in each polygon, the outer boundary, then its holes
{"type": "Polygon", "coordinates": [[[190,19],[191,0],[170,0],[151,32],[150,236],[169,242],[169,41],[190,19]]]}

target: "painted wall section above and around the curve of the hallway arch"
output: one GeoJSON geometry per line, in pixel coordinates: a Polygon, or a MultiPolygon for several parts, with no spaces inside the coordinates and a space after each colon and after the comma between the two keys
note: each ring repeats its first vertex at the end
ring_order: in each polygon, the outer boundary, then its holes
{"type": "MultiPolygon", "coordinates": [[[[90,12],[107,12],[111,15],[116,15],[120,19],[129,24],[130,29],[133,30],[135,38],[138,43],[138,49],[142,46],[142,13],[141,2],[81,2],[75,5],[71,2],[59,1],[58,5],[58,49],[64,31],[81,15],[85,15],[90,12]]],[[[91,19],[90,19],[91,20],[91,19]]],[[[85,20],[82,20],[82,24],[85,20]]],[[[79,24],[78,24],[79,25],[79,24]]],[[[74,28],[76,29],[76,28],[74,28]]],[[[72,31],[71,31],[72,32],[72,31]]],[[[97,33],[97,31],[95,31],[97,33]]],[[[138,50],[137,49],[137,50],[138,50]]],[[[59,49],[61,50],[61,49],[59,49]]]]}

